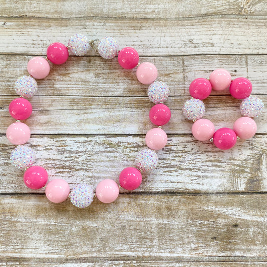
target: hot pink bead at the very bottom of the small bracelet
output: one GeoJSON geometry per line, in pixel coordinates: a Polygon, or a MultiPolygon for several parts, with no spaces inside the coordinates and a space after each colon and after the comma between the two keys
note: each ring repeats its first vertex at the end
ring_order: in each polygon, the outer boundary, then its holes
{"type": "Polygon", "coordinates": [[[236,143],[236,134],[230,128],[220,128],[213,135],[214,145],[219,149],[230,149],[236,143]]]}

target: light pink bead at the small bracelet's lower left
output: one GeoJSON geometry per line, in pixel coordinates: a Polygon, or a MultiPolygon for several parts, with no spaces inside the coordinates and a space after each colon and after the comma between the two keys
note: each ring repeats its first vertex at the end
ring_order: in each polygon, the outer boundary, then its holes
{"type": "Polygon", "coordinates": [[[214,134],[214,125],[207,119],[197,120],[192,125],[192,134],[199,141],[209,140],[214,134]]]}

